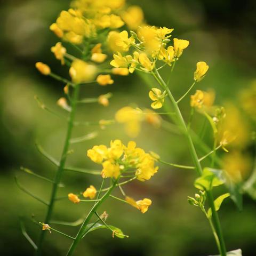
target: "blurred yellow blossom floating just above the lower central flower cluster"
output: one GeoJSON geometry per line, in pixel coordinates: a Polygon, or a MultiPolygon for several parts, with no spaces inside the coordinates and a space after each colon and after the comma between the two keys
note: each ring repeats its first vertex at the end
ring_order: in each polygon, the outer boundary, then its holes
{"type": "Polygon", "coordinates": [[[115,115],[118,123],[125,124],[125,132],[131,138],[135,138],[139,134],[142,118],[141,114],[132,107],[123,107],[115,115]]]}

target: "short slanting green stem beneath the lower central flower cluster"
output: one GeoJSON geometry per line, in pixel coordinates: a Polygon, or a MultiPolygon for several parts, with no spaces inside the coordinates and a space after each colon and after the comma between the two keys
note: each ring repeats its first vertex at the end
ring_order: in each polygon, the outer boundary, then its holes
{"type": "Polygon", "coordinates": [[[74,253],[76,246],[78,245],[78,243],[81,241],[81,239],[83,238],[85,231],[86,231],[86,226],[89,224],[89,221],[91,220],[92,216],[95,214],[95,212],[98,210],[99,206],[108,198],[108,196],[111,194],[112,190],[116,187],[117,183],[118,183],[118,179],[116,179],[113,183],[113,185],[108,189],[108,191],[105,193],[105,195],[103,195],[100,199],[99,202],[95,203],[94,206],[92,207],[91,211],[89,212],[89,214],[87,215],[86,219],[84,220],[81,228],[79,229],[76,238],[74,240],[74,242],[71,244],[67,256],[70,256],[74,253]]]}

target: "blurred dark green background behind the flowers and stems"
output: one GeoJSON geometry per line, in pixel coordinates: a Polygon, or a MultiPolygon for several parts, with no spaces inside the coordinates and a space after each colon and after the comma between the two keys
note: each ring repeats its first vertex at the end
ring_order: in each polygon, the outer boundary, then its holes
{"type": "MultiPolygon", "coordinates": [[[[243,3],[231,0],[127,2],[139,4],[150,25],[174,28],[174,37],[190,41],[172,76],[171,89],[175,97],[186,91],[193,79],[196,62],[203,60],[210,69],[198,87],[203,90],[213,88],[217,92],[218,104],[231,100],[239,105],[239,93],[249,87],[255,78],[254,0],[243,3]]],[[[14,176],[18,175],[20,182],[36,195],[49,198],[49,183],[22,173],[19,167],[26,166],[41,175],[53,177],[55,167],[38,153],[36,140],[54,157],[59,158],[61,153],[66,123],[40,109],[34,95],[38,95],[49,108],[62,113],[55,102],[62,95],[63,85],[39,74],[35,62],[46,62],[55,73],[67,76],[67,69],[62,68],[50,52],[50,47],[58,39],[49,30],[49,25],[68,5],[69,1],[60,0],[1,1],[1,255],[33,255],[33,248],[21,235],[18,217],[29,217],[33,213],[39,221],[44,219],[44,205],[20,191],[14,183],[14,176]]],[[[131,102],[139,107],[150,107],[148,88],[138,75],[114,78],[114,85],[102,87],[93,84],[83,88],[84,97],[97,97],[109,91],[114,96],[107,108],[95,103],[79,107],[77,120],[112,119],[119,108],[131,102]]],[[[187,99],[181,104],[186,118],[189,114],[188,102],[187,99]]],[[[198,117],[193,125],[200,130],[202,119],[198,117]]],[[[73,137],[95,130],[98,131],[99,127],[79,127],[75,129],[73,137]]],[[[209,134],[210,130],[206,132],[205,140],[211,145],[209,134]]],[[[74,154],[68,158],[68,164],[97,169],[99,166],[87,158],[87,149],[99,143],[108,145],[111,139],[116,138],[125,143],[130,140],[122,125],[100,130],[99,137],[71,147],[74,154]]],[[[177,134],[143,124],[142,132],[135,141],[139,147],[155,151],[168,162],[191,163],[186,141],[177,134]]],[[[254,154],[252,143],[244,150],[251,156],[254,154]]],[[[193,196],[196,192],[192,185],[195,178],[195,173],[189,170],[160,165],[158,173],[149,181],[135,181],[125,186],[126,194],[134,198],[152,199],[149,211],[141,214],[129,205],[108,199],[100,212],[106,210],[109,213],[108,223],[121,228],[130,238],[113,239],[108,230],[97,230],[86,236],[75,255],[217,254],[209,223],[199,209],[187,203],[187,196],[193,196]]],[[[65,187],[59,189],[59,194],[67,195],[70,191],[79,193],[91,184],[99,186],[100,182],[99,177],[66,172],[63,177],[65,187]]],[[[116,193],[118,195],[118,191],[116,193]]],[[[88,210],[87,204],[60,201],[54,209],[54,219],[75,221],[88,210]]],[[[247,196],[244,196],[242,212],[238,212],[230,200],[223,203],[220,218],[228,250],[241,248],[243,255],[255,255],[255,213],[256,204],[247,196]]],[[[26,221],[26,227],[36,241],[39,227],[29,221],[26,221]]],[[[75,235],[77,231],[74,227],[59,229],[70,235],[75,235]]],[[[47,234],[46,237],[44,255],[65,255],[70,244],[67,238],[56,233],[47,234]]]]}

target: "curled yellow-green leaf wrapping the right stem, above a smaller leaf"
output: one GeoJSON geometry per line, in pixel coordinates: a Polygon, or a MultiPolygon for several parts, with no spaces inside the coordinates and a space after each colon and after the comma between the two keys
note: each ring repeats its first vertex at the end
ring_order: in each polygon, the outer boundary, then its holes
{"type": "Polygon", "coordinates": [[[200,190],[211,190],[212,187],[220,186],[224,183],[221,170],[205,167],[201,177],[197,178],[194,186],[200,190]]]}

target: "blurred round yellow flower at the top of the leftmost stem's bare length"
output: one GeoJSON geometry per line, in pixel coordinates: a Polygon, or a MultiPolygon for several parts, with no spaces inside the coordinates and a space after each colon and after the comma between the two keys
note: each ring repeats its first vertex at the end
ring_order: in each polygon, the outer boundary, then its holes
{"type": "Polygon", "coordinates": [[[72,62],[69,75],[74,83],[90,82],[94,79],[96,67],[83,60],[76,59],[72,62]]]}

